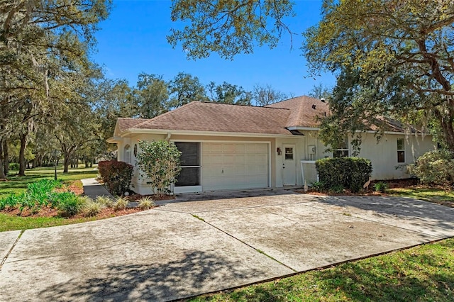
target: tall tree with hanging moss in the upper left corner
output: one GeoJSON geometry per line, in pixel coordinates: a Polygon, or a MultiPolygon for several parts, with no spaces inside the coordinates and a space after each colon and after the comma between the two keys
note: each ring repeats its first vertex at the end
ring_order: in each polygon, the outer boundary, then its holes
{"type": "MultiPolygon", "coordinates": [[[[60,80],[61,72],[74,72],[74,62],[89,64],[94,30],[110,5],[97,0],[1,1],[0,141],[19,135],[25,150],[31,125],[54,113],[55,93],[61,92],[54,89],[52,96],[52,82],[60,80]]],[[[0,159],[7,154],[2,149],[0,159]]],[[[23,174],[23,152],[20,157],[23,174]]]]}

